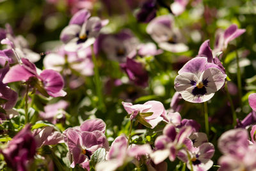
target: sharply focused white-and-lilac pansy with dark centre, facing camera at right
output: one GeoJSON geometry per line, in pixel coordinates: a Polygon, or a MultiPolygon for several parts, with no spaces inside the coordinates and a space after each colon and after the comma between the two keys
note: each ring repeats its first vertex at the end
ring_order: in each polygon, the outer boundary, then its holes
{"type": "Polygon", "coordinates": [[[210,100],[227,77],[216,64],[207,63],[206,57],[191,59],[178,73],[174,80],[175,89],[184,100],[192,103],[210,100]]]}

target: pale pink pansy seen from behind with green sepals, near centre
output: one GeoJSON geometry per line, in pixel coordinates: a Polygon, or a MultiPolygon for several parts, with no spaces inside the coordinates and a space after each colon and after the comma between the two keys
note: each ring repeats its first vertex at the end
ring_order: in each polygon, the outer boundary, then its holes
{"type": "Polygon", "coordinates": [[[130,119],[138,121],[149,128],[155,128],[161,121],[169,122],[166,110],[160,101],[147,101],[143,105],[132,105],[132,103],[122,102],[130,119]]]}

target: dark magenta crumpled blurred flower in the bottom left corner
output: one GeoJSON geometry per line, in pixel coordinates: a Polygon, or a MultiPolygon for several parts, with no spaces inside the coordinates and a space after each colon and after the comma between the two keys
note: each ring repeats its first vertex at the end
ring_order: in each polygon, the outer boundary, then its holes
{"type": "Polygon", "coordinates": [[[8,167],[13,170],[26,171],[28,161],[32,160],[36,154],[36,140],[30,131],[30,126],[26,125],[12,138],[8,147],[1,149],[0,152],[8,167]]]}

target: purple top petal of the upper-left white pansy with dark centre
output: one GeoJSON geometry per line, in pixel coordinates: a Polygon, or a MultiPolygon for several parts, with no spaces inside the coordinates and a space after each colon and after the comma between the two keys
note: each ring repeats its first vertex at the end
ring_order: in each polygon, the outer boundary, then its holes
{"type": "Polygon", "coordinates": [[[86,22],[86,20],[88,20],[90,16],[91,16],[90,11],[85,9],[80,10],[77,13],[75,13],[74,16],[70,19],[69,25],[77,24],[79,26],[82,26],[83,23],[86,22]]]}

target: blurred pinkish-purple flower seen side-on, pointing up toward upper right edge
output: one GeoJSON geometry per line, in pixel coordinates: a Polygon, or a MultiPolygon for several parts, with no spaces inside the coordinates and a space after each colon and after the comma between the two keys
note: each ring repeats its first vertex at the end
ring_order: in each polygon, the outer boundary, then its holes
{"type": "Polygon", "coordinates": [[[225,31],[217,32],[213,54],[223,52],[227,48],[230,41],[234,40],[245,31],[245,29],[238,29],[236,24],[232,24],[225,31]]]}

